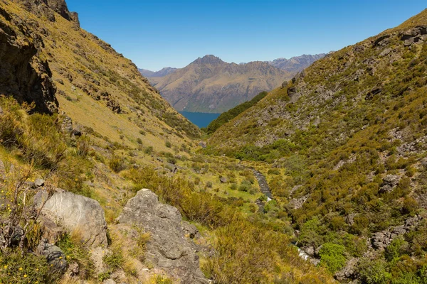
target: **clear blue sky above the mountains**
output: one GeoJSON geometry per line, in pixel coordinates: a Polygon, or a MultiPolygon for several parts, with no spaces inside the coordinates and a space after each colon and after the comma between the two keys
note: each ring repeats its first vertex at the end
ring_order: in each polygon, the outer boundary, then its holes
{"type": "Polygon", "coordinates": [[[66,0],[82,28],[138,67],[184,67],[339,50],[427,8],[425,0],[66,0]]]}

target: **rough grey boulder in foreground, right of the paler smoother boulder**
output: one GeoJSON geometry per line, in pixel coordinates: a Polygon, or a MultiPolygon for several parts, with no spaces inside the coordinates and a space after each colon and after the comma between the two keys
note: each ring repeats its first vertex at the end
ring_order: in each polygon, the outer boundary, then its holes
{"type": "Polygon", "coordinates": [[[151,233],[146,258],[181,283],[208,283],[199,268],[194,244],[186,238],[178,209],[162,204],[150,190],[139,190],[118,218],[120,224],[139,226],[151,233]]]}

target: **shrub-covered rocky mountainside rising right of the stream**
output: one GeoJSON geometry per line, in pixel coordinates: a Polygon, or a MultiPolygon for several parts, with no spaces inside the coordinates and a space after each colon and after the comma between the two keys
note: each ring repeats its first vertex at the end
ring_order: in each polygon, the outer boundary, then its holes
{"type": "Polygon", "coordinates": [[[317,60],[221,126],[206,153],[278,169],[268,183],[298,246],[338,280],[423,283],[426,70],[424,10],[317,60]]]}

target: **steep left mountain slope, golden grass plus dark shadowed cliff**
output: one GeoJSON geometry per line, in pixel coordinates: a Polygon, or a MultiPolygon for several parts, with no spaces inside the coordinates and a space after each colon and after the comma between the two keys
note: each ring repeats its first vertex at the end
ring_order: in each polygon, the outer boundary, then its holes
{"type": "Polygon", "coordinates": [[[70,13],[64,1],[47,1],[49,6],[44,2],[16,0],[16,3],[22,6],[1,2],[3,42],[10,43],[2,62],[10,62],[5,66],[11,74],[23,70],[16,74],[20,78],[8,82],[21,81],[27,76],[31,84],[41,84],[46,91],[36,97],[35,92],[26,94],[16,88],[7,92],[3,88],[5,94],[35,101],[36,109],[47,111],[44,105],[49,105],[49,111],[55,111],[59,107],[59,111],[65,111],[81,126],[127,145],[137,145],[137,138],[142,138],[139,130],[147,133],[144,137],[147,146],[154,147],[164,145],[160,141],[167,139],[181,143],[181,137],[199,135],[195,126],[160,97],[130,60],[80,29],[77,14],[70,13]],[[26,62],[16,64],[23,55],[26,62]],[[41,74],[36,82],[28,74],[30,70],[22,67],[28,62],[36,70],[31,72],[41,74]],[[171,133],[169,138],[160,135],[166,129],[171,133]]]}

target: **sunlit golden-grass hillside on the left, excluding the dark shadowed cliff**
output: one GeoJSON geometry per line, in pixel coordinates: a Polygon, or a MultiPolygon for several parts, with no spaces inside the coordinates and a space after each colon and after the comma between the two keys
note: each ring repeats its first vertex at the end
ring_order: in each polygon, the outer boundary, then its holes
{"type": "Polygon", "coordinates": [[[141,138],[157,148],[167,140],[181,144],[199,135],[130,60],[95,35],[58,15],[52,22],[17,4],[3,2],[1,8],[13,15],[0,16],[5,26],[21,38],[31,40],[35,34],[40,39],[38,57],[48,61],[60,111],[73,121],[127,146],[137,146],[141,138]]]}

